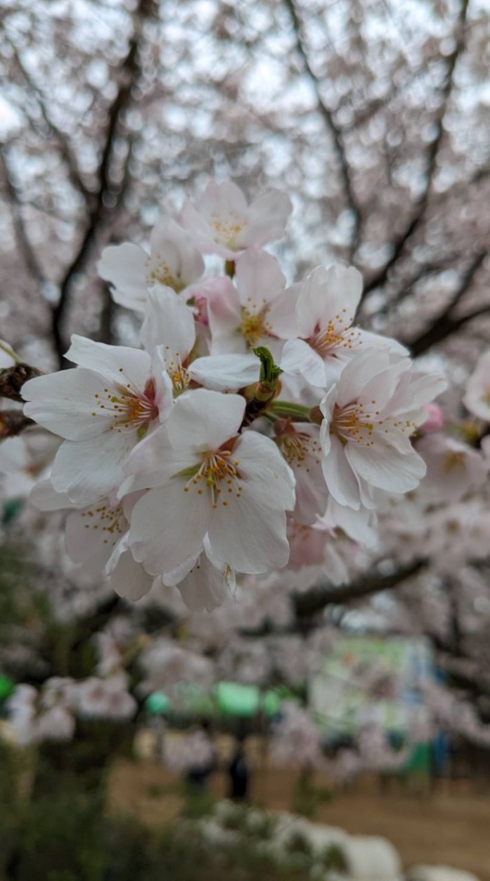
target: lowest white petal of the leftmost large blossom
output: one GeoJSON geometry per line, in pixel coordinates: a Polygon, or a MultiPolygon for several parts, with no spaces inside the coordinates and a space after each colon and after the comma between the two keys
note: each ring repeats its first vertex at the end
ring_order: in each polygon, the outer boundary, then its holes
{"type": "Polygon", "coordinates": [[[133,433],[107,432],[86,441],[65,441],[56,453],[51,482],[78,507],[108,496],[123,480],[133,433]]]}

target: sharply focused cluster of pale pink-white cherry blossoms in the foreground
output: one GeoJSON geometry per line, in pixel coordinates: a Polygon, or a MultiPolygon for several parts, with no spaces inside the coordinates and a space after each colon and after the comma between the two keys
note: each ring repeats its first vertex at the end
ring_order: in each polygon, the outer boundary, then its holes
{"type": "Polygon", "coordinates": [[[26,416],[63,441],[34,503],[70,510],[71,558],[132,600],[158,581],[212,610],[237,574],[311,556],[345,581],[338,535],[369,544],[376,511],[426,473],[412,439],[444,381],[356,325],[353,267],[286,285],[264,245],[291,209],[211,182],[160,220],[149,252],[105,248],[100,276],[140,347],[73,336],[76,368],[22,389],[26,416]]]}

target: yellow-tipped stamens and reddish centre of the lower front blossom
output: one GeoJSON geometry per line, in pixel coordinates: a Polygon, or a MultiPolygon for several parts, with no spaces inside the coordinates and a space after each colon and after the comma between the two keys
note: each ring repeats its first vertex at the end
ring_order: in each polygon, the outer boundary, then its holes
{"type": "Polygon", "coordinates": [[[180,472],[177,477],[187,477],[189,480],[184,486],[184,492],[190,492],[195,489],[197,495],[203,495],[204,492],[210,492],[212,498],[212,507],[218,507],[221,500],[222,505],[228,504],[233,496],[240,499],[243,489],[240,482],[240,471],[238,470],[240,462],[238,459],[232,459],[230,450],[217,450],[213,453],[206,453],[203,462],[200,465],[191,467],[180,472]],[[220,497],[223,498],[220,499],[220,497]]]}

